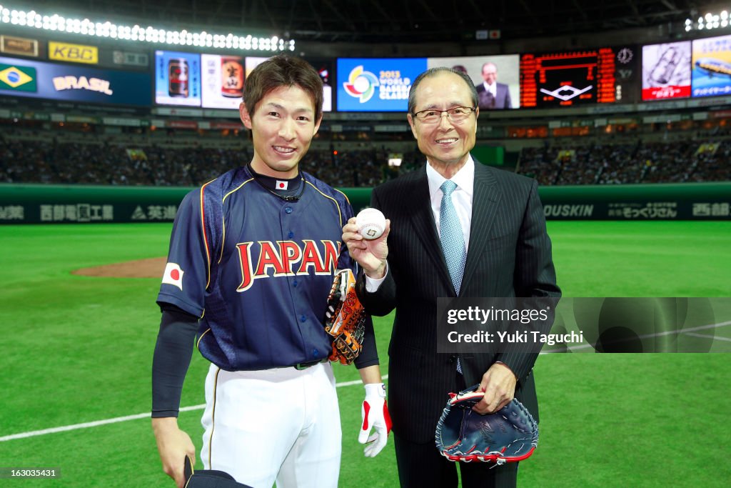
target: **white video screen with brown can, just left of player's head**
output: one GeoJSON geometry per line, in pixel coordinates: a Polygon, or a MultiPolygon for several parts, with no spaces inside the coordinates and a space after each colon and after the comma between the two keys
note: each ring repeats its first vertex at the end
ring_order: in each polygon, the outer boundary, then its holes
{"type": "Polygon", "coordinates": [[[243,56],[200,56],[200,80],[203,108],[238,110],[243,97],[243,56]]]}

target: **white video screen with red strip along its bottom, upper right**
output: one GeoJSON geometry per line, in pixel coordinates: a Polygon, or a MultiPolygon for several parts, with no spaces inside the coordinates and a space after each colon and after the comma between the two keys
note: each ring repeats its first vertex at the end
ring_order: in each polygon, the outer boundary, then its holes
{"type": "Polygon", "coordinates": [[[690,97],[690,41],[642,48],[642,100],[690,97]]]}

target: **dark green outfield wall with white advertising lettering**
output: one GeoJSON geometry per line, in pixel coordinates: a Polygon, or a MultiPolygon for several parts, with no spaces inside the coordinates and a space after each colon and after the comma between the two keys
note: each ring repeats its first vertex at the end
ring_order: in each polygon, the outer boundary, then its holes
{"type": "MultiPolygon", "coordinates": [[[[0,184],[0,223],[172,222],[192,189],[0,184]]],[[[356,212],[370,203],[371,188],[341,190],[356,212]]],[[[547,219],[731,219],[731,182],[541,187],[539,194],[547,219]]]]}

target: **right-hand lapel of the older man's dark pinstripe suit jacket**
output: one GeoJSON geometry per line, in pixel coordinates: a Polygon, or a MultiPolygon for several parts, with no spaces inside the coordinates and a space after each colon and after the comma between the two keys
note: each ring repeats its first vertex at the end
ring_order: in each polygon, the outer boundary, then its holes
{"type": "MultiPolygon", "coordinates": [[[[474,189],[472,193],[472,223],[469,231],[469,251],[464,266],[461,290],[466,288],[469,279],[477,269],[485,242],[490,239],[493,222],[501,198],[495,176],[490,168],[474,161],[474,189]]],[[[446,265],[445,265],[446,266],[446,265]]]]}

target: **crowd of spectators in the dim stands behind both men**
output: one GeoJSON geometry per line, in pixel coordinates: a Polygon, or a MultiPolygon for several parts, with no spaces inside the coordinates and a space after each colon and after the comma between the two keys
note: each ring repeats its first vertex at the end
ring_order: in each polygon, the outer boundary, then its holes
{"type": "MultiPolygon", "coordinates": [[[[191,187],[246,164],[251,148],[161,140],[140,146],[134,138],[72,139],[0,132],[0,182],[191,187]],[[19,135],[25,137],[18,137],[19,135]]],[[[416,148],[401,151],[401,167],[387,164],[393,152],[378,149],[311,149],[301,167],[335,187],[373,187],[423,164],[416,148]]],[[[641,141],[584,146],[524,148],[518,172],[542,185],[731,181],[731,140],[641,141]]]]}

